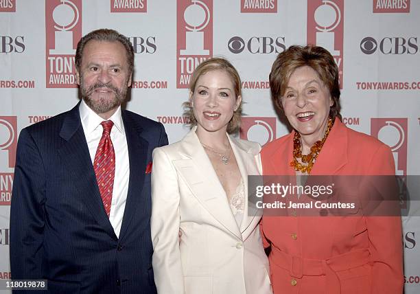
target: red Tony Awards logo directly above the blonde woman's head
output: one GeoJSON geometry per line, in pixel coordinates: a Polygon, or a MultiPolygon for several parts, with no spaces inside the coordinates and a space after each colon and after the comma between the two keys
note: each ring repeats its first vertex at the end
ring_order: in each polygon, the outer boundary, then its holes
{"type": "Polygon", "coordinates": [[[180,0],[176,10],[176,87],[183,89],[213,54],[213,1],[180,0]]]}

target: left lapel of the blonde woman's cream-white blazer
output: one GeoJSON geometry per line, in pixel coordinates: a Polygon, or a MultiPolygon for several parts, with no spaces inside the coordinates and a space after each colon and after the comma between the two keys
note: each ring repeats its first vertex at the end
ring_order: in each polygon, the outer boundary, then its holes
{"type": "Polygon", "coordinates": [[[242,240],[226,193],[196,136],[196,128],[193,128],[182,140],[181,152],[189,159],[176,160],[174,166],[192,194],[223,227],[242,240]]]}

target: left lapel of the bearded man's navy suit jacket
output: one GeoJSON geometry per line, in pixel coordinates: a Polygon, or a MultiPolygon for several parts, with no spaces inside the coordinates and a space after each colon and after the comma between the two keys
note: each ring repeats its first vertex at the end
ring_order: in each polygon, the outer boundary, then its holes
{"type": "Polygon", "coordinates": [[[100,191],[97,187],[89,148],[86,143],[86,137],[84,137],[82,122],[80,122],[79,104],[71,109],[65,117],[60,137],[65,139],[65,142],[58,150],[58,153],[62,158],[62,162],[70,170],[74,183],[80,190],[82,201],[86,204],[87,210],[97,220],[97,223],[114,240],[117,240],[114,229],[108,216],[106,216],[100,191]]]}

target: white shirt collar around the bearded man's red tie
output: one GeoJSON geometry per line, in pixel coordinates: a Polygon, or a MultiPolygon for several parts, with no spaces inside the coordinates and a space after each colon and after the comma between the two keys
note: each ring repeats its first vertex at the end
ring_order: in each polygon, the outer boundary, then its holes
{"type": "MultiPolygon", "coordinates": [[[[83,129],[85,130],[86,134],[90,134],[95,131],[105,120],[97,115],[95,111],[93,111],[89,106],[87,106],[86,102],[82,100],[79,106],[79,113],[80,113],[80,120],[82,121],[83,129]]],[[[122,121],[121,116],[121,106],[118,106],[117,111],[109,118],[114,123],[114,126],[117,128],[119,133],[124,134],[124,124],[122,121]]]]}

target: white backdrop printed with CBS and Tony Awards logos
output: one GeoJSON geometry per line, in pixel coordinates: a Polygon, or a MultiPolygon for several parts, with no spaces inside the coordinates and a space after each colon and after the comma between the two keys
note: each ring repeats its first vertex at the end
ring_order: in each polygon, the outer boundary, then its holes
{"type": "MultiPolygon", "coordinates": [[[[240,72],[238,135],[263,145],[285,135],[268,89],[272,62],[290,45],[322,45],[340,69],[343,122],[388,144],[404,179],[420,174],[418,0],[0,0],[0,279],[10,277],[19,132],[78,103],[76,44],[101,27],[135,48],[126,108],[162,122],[171,143],[188,131],[191,73],[211,56],[240,72]]],[[[420,218],[403,226],[405,291],[420,293],[420,218]]]]}

